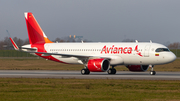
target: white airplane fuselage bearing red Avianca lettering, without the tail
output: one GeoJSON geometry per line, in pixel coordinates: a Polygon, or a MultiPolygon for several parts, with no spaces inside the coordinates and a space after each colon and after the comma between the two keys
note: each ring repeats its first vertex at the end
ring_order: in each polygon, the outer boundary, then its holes
{"type": "Polygon", "coordinates": [[[171,51],[156,52],[158,48],[168,49],[157,43],[47,43],[44,48],[47,53],[72,55],[52,55],[69,64],[83,64],[76,56],[108,58],[110,65],[159,65],[176,59],[171,51]]]}

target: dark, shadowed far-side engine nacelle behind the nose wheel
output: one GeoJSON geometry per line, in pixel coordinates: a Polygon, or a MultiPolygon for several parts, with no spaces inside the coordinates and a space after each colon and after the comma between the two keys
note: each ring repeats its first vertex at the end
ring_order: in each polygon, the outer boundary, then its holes
{"type": "Polygon", "coordinates": [[[129,71],[133,72],[145,72],[148,70],[149,65],[127,65],[129,71]]]}

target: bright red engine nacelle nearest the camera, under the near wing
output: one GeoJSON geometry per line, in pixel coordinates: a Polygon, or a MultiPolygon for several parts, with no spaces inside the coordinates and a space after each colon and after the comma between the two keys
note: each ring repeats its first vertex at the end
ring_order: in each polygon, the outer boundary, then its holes
{"type": "Polygon", "coordinates": [[[87,67],[91,72],[105,72],[109,70],[110,62],[107,59],[90,59],[87,67]]]}

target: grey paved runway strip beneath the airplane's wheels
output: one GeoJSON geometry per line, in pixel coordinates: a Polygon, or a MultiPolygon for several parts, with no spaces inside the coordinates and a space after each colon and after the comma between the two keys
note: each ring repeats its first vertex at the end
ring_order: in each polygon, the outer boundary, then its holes
{"type": "Polygon", "coordinates": [[[80,71],[44,71],[44,70],[0,70],[1,78],[76,78],[76,79],[134,79],[134,80],[180,80],[180,72],[117,71],[115,75],[107,72],[91,72],[81,75],[80,71]]]}

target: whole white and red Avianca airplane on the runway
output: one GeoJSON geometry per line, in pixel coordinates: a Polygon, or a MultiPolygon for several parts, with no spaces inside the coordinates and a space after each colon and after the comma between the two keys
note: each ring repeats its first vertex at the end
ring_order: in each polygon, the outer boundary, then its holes
{"type": "Polygon", "coordinates": [[[29,52],[47,60],[65,64],[82,64],[82,75],[90,72],[116,74],[115,66],[125,65],[132,72],[155,75],[154,65],[176,59],[166,46],[153,42],[82,42],[54,43],[48,39],[31,12],[25,12],[29,43],[20,48],[10,37],[15,50],[29,52]]]}

